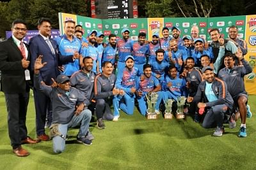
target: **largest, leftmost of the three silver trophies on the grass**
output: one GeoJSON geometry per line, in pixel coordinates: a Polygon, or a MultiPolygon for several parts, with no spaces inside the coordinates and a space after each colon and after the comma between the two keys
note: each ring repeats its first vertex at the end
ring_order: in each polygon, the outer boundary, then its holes
{"type": "Polygon", "coordinates": [[[157,102],[157,92],[147,93],[146,99],[148,104],[147,119],[157,119],[157,113],[155,113],[155,105],[157,102]]]}

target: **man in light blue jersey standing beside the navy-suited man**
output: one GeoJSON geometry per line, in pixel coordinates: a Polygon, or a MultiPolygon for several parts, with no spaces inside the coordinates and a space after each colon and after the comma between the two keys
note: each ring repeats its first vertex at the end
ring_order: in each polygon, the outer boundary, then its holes
{"type": "Polygon", "coordinates": [[[73,36],[76,22],[73,20],[65,21],[64,35],[54,38],[60,54],[60,63],[64,64],[62,74],[71,76],[79,70],[79,58],[82,56],[81,41],[73,36]]]}

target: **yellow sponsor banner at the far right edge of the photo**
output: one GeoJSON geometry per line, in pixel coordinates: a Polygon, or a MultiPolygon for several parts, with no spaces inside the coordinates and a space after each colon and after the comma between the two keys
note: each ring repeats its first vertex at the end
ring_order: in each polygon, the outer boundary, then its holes
{"type": "Polygon", "coordinates": [[[256,94],[256,15],[247,15],[244,24],[246,24],[245,41],[248,46],[248,53],[245,58],[253,69],[252,73],[245,76],[244,82],[248,94],[256,94]]]}

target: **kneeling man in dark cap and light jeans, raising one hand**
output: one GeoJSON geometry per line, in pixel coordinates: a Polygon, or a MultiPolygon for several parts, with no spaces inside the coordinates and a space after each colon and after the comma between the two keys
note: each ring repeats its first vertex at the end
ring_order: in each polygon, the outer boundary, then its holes
{"type": "Polygon", "coordinates": [[[60,74],[56,78],[57,87],[40,83],[39,71],[45,64],[47,63],[42,64],[41,56],[36,59],[34,78],[36,88],[40,88],[52,101],[51,137],[53,137],[53,151],[61,153],[65,150],[68,128],[77,125],[81,125],[77,134],[77,142],[92,145],[92,141],[85,138],[92,118],[92,112],[86,107],[89,104],[88,99],[81,95],[79,90],[70,87],[69,78],[64,74],[60,74]]]}

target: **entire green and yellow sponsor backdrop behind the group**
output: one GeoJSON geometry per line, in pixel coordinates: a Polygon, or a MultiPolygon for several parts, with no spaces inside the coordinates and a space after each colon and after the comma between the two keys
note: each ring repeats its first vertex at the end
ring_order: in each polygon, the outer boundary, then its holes
{"type": "MultiPolygon", "coordinates": [[[[122,29],[128,28],[131,39],[138,40],[139,32],[146,32],[147,39],[152,39],[154,32],[161,31],[163,27],[177,26],[181,30],[181,37],[189,34],[193,25],[198,25],[200,37],[211,41],[209,30],[217,27],[220,29],[221,36],[228,38],[228,27],[236,25],[239,38],[245,39],[248,44],[248,54],[246,60],[253,67],[253,73],[246,75],[244,82],[246,90],[249,94],[256,94],[255,88],[255,58],[256,58],[256,15],[242,15],[232,17],[214,17],[214,18],[131,18],[131,19],[115,19],[115,20],[99,20],[96,18],[82,17],[68,13],[59,13],[60,32],[63,32],[63,22],[65,20],[74,20],[77,24],[83,25],[84,32],[92,30],[102,31],[105,35],[104,40],[108,41],[108,35],[113,33],[118,37],[122,37],[122,29]]],[[[87,34],[84,34],[86,37],[87,34]]]]}

